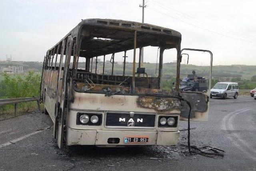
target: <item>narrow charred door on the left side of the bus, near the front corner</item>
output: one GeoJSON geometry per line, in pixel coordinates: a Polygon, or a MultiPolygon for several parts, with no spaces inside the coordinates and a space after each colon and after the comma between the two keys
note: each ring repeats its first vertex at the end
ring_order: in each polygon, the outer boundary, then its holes
{"type": "MultiPolygon", "coordinates": [[[[67,45],[66,45],[66,58],[65,58],[65,63],[64,63],[64,71],[63,71],[63,76],[61,78],[61,70],[62,70],[62,65],[60,65],[60,72],[59,72],[59,80],[62,79],[61,82],[58,83],[58,90],[57,94],[60,93],[60,95],[57,95],[57,97],[60,97],[60,106],[58,107],[57,111],[57,123],[55,126],[58,126],[58,135],[57,135],[57,143],[58,147],[62,148],[63,144],[63,131],[64,131],[64,126],[66,123],[66,115],[68,114],[68,72],[69,72],[69,65],[70,65],[70,56],[72,52],[72,44],[73,44],[73,39],[71,36],[68,36],[67,40],[67,45]]],[[[63,56],[63,54],[62,54],[63,56]]],[[[62,58],[61,56],[61,58],[62,58]]],[[[62,60],[62,59],[61,59],[62,60]]]]}

